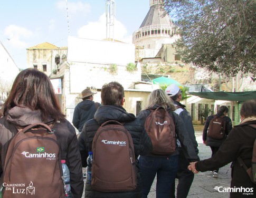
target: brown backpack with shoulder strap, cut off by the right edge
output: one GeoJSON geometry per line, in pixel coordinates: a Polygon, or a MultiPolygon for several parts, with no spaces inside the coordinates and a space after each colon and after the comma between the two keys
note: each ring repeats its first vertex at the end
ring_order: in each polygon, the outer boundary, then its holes
{"type": "MultiPolygon", "coordinates": [[[[256,124],[249,124],[248,126],[256,129],[256,124]]],[[[251,167],[248,169],[248,167],[245,165],[245,163],[240,157],[238,157],[238,162],[240,166],[243,167],[245,171],[248,173],[251,181],[254,184],[256,184],[256,139],[254,140],[254,144],[253,144],[251,167]]]]}

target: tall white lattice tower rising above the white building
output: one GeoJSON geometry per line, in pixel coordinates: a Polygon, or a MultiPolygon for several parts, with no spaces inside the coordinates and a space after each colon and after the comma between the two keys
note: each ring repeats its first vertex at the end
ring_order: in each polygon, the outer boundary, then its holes
{"type": "Polygon", "coordinates": [[[106,38],[114,40],[115,0],[106,0],[106,38]]]}

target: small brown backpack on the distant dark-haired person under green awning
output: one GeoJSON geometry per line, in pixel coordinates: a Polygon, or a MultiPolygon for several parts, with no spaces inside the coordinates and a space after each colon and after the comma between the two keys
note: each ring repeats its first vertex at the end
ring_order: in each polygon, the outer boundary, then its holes
{"type": "Polygon", "coordinates": [[[225,137],[226,122],[223,118],[224,116],[217,117],[217,115],[213,115],[207,131],[209,138],[220,140],[225,137]]]}

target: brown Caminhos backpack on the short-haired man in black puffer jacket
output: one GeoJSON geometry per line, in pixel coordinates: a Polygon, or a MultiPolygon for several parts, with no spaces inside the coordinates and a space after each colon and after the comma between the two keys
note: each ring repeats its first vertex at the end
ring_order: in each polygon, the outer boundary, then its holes
{"type": "Polygon", "coordinates": [[[92,142],[92,181],[102,192],[132,191],[137,186],[134,143],[131,134],[118,121],[101,124],[92,142]]]}

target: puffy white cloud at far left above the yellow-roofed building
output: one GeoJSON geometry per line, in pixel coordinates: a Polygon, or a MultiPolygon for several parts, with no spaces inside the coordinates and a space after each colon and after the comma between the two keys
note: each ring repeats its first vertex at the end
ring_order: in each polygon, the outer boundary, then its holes
{"type": "Polygon", "coordinates": [[[4,35],[13,47],[24,48],[28,43],[22,40],[31,38],[33,33],[24,27],[10,25],[4,29],[4,35]]]}

